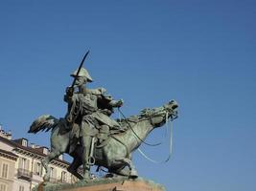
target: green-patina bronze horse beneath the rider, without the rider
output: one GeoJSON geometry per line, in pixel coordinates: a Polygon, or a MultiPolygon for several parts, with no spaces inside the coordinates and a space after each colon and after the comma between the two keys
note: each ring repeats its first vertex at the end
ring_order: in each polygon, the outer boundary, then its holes
{"type": "MultiPolygon", "coordinates": [[[[161,107],[144,109],[138,116],[118,121],[126,131],[109,134],[103,143],[96,145],[92,151],[94,157],[92,164],[103,166],[108,169],[108,173],[116,176],[137,178],[137,171],[131,161],[132,152],[144,142],[154,128],[162,126],[169,119],[175,119],[177,107],[176,101],[172,100],[161,107]]],[[[39,131],[49,130],[52,130],[51,153],[42,159],[46,172],[44,180],[50,179],[49,162],[63,153],[74,158],[67,170],[82,179],[81,174],[78,173],[78,168],[82,164],[81,145],[77,144],[76,149],[70,153],[72,129],[66,127],[63,118],[57,119],[49,115],[38,117],[31,125],[29,133],[36,134],[39,131]]]]}

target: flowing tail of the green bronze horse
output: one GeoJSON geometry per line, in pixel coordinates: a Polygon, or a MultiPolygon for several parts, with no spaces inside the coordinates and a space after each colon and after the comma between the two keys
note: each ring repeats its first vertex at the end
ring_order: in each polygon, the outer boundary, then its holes
{"type": "Polygon", "coordinates": [[[50,115],[43,115],[35,119],[28,133],[36,134],[39,131],[48,132],[50,129],[54,128],[57,124],[58,124],[58,118],[50,115]]]}

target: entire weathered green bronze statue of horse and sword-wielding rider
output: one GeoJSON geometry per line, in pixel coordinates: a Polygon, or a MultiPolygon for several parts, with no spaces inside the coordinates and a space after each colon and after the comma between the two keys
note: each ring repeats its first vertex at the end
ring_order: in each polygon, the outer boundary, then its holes
{"type": "Polygon", "coordinates": [[[123,105],[122,99],[114,100],[104,88],[86,88],[92,77],[82,67],[71,76],[74,77],[73,85],[67,87],[64,95],[68,106],[66,116],[59,119],[50,115],[38,117],[29,130],[34,134],[41,130],[52,131],[51,153],[42,160],[46,170],[44,180],[50,179],[49,162],[63,153],[74,158],[68,171],[79,179],[90,180],[92,165],[103,166],[113,175],[137,178],[132,152],[151,130],[162,126],[167,118],[177,117],[177,103],[172,100],[162,107],[144,109],[137,116],[117,121],[110,116],[113,108],[123,105]],[[78,173],[81,164],[82,176],[78,173]]]}

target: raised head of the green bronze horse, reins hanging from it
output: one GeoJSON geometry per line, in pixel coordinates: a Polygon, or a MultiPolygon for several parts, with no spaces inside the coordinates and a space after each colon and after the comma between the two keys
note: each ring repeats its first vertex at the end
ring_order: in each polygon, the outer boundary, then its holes
{"type": "Polygon", "coordinates": [[[149,117],[154,127],[160,127],[168,119],[174,120],[177,117],[177,107],[177,102],[171,100],[162,107],[143,110],[141,116],[149,117]]]}

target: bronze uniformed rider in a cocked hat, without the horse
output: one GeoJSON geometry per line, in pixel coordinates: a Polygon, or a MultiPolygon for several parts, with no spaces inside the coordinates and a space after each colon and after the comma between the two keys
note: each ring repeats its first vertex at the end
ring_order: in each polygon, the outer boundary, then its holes
{"type": "Polygon", "coordinates": [[[114,107],[121,107],[123,100],[114,100],[111,96],[105,95],[104,88],[87,89],[86,83],[92,82],[92,77],[87,70],[81,68],[71,76],[77,77],[74,88],[68,87],[64,101],[68,103],[68,113],[66,120],[70,123],[77,124],[80,127],[80,143],[82,146],[82,164],[83,164],[83,179],[90,178],[89,155],[93,138],[101,129],[119,128],[119,124],[110,118],[114,107]],[[103,128],[104,127],[104,128],[103,128]],[[98,129],[98,131],[97,131],[98,129]]]}

